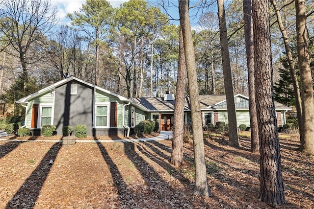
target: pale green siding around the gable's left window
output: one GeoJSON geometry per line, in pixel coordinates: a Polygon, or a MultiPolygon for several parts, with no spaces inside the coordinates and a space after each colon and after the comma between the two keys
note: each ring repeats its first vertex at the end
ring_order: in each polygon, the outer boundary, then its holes
{"type": "Polygon", "coordinates": [[[26,107],[26,121],[25,121],[26,127],[30,128],[33,104],[53,104],[53,102],[54,94],[52,93],[46,93],[44,95],[35,97],[32,100],[29,100],[28,105],[26,107]]]}

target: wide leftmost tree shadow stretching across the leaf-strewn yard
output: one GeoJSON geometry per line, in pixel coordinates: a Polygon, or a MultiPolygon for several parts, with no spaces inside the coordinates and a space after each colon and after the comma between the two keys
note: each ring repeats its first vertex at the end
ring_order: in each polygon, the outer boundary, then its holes
{"type": "Polygon", "coordinates": [[[52,168],[49,162],[54,161],[62,146],[62,143],[54,143],[46,155],[43,157],[40,164],[26,179],[24,184],[15,193],[12,199],[7,203],[5,209],[11,208],[33,208],[36,200],[43,187],[46,178],[52,168]]]}

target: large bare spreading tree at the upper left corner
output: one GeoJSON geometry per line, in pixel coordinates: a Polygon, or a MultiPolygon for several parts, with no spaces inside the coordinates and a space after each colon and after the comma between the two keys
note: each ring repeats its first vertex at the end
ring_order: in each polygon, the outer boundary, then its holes
{"type": "MultiPolygon", "coordinates": [[[[44,35],[49,35],[56,23],[56,8],[49,0],[3,0],[0,8],[1,49],[12,46],[20,59],[24,83],[28,83],[29,64],[37,62],[41,53],[33,46],[44,45],[44,35]]],[[[39,58],[42,58],[41,56],[39,58]]]]}

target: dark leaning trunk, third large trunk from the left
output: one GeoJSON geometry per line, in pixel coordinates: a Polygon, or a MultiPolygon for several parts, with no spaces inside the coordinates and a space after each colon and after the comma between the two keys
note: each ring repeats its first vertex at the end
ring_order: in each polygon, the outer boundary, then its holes
{"type": "Polygon", "coordinates": [[[219,17],[219,35],[220,48],[222,57],[222,70],[224,74],[226,102],[228,109],[229,124],[229,144],[239,148],[239,138],[237,133],[236,113],[235,113],[235,97],[232,85],[232,74],[230,67],[230,57],[228,48],[227,25],[225,16],[224,0],[218,0],[218,17],[219,17]]]}

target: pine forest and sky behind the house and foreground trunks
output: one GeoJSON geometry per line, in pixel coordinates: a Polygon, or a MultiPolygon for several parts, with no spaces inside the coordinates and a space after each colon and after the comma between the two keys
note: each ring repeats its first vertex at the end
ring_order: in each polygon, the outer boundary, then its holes
{"type": "MultiPolygon", "coordinates": [[[[217,2],[197,2],[191,1],[190,6],[195,7],[190,9],[190,18],[199,93],[225,94],[217,2]]],[[[280,1],[278,7],[288,36],[295,40],[295,8],[289,2],[280,1]]],[[[105,0],[87,0],[79,11],[67,14],[68,22],[58,22],[58,9],[49,0],[1,1],[2,103],[14,106],[12,115],[23,116],[25,111],[15,104],[17,99],[70,75],[126,97],[175,93],[179,56],[176,3],[130,0],[112,7],[105,0]],[[20,10],[14,12],[16,8],[20,10]]],[[[308,1],[310,40],[313,7],[313,1],[308,1]]],[[[275,99],[293,106],[288,61],[272,7],[270,17],[275,99]]],[[[242,1],[227,1],[226,19],[234,93],[248,94],[242,1]]],[[[290,45],[296,59],[296,41],[290,45]]]]}

